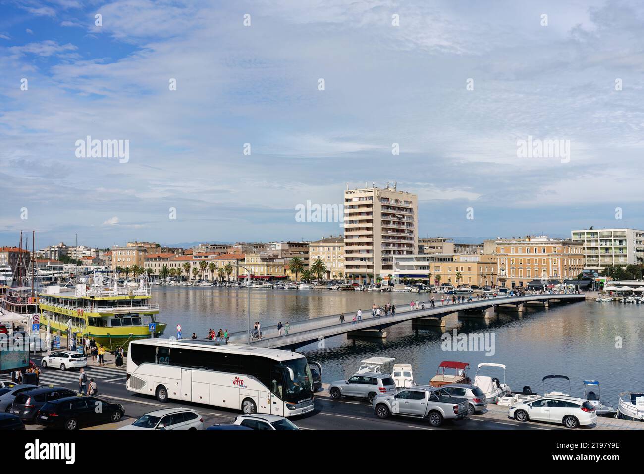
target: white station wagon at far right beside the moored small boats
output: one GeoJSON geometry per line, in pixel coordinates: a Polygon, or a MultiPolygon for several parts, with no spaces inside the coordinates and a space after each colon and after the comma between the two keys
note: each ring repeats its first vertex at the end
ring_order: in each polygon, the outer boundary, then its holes
{"type": "Polygon", "coordinates": [[[547,421],[578,428],[597,422],[594,405],[585,399],[568,395],[549,395],[526,400],[510,407],[507,416],[517,421],[547,421]]]}

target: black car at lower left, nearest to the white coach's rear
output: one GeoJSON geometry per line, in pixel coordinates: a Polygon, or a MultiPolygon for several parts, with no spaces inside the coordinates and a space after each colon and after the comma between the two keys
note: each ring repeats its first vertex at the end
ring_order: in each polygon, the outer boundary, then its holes
{"type": "Polygon", "coordinates": [[[97,397],[64,397],[44,404],[36,419],[38,424],[64,430],[80,426],[120,421],[125,408],[97,397]]]}

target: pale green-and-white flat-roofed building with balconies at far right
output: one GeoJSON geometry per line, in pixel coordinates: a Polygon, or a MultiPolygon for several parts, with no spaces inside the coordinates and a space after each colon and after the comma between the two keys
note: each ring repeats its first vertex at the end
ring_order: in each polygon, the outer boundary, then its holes
{"type": "Polygon", "coordinates": [[[573,241],[583,246],[583,268],[601,272],[604,267],[644,263],[644,230],[581,229],[571,231],[573,241]]]}

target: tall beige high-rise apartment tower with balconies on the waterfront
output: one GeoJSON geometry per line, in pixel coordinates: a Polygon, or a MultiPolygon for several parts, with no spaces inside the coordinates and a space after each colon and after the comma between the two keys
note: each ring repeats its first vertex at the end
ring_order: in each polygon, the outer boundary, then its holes
{"type": "Polygon", "coordinates": [[[418,198],[395,186],[345,191],[345,273],[388,281],[393,258],[418,253],[418,198]]]}

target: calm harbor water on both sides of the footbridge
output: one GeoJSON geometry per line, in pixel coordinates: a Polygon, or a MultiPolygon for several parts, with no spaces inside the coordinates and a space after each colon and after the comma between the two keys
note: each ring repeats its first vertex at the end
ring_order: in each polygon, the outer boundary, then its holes
{"type": "MultiPolygon", "coordinates": [[[[347,321],[358,308],[370,313],[373,302],[406,306],[413,299],[427,300],[427,293],[379,293],[371,291],[261,290],[217,287],[156,287],[153,300],[160,306],[159,320],[168,323],[164,337],[196,332],[205,337],[209,328],[246,330],[250,305],[251,324],[301,321],[311,317],[345,313],[347,321]]],[[[365,314],[366,315],[366,314],[365,314]]],[[[446,332],[487,333],[494,337],[492,356],[485,351],[442,350],[442,332],[415,330],[404,322],[387,330],[386,339],[347,339],[346,335],[325,341],[324,348],[310,344],[299,348],[323,368],[323,381],[343,379],[357,370],[366,357],[395,357],[412,364],[414,378],[426,383],[442,360],[468,362],[473,378],[477,364],[495,362],[507,366],[506,382],[512,390],[529,385],[542,392],[544,375],[567,375],[571,395],[583,395],[582,380],[599,380],[601,395],[616,406],[620,391],[644,390],[644,306],[587,301],[549,310],[529,309],[522,315],[499,313],[487,322],[446,318],[446,332]],[[621,338],[621,348],[616,348],[621,338]]],[[[492,369],[495,370],[495,369],[492,369]]],[[[502,372],[495,372],[502,380],[502,372]]],[[[546,386],[568,393],[565,380],[546,386]],[[564,390],[565,389],[565,390],[564,390]]]]}

